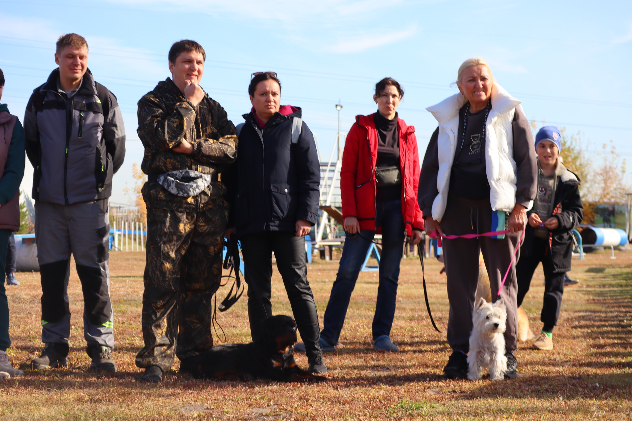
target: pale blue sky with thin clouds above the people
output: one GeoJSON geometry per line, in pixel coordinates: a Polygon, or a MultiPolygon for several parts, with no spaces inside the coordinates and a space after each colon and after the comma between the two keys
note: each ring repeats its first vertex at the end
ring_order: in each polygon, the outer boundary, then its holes
{"type": "MultiPolygon", "coordinates": [[[[248,112],[250,73],[276,71],[282,103],[303,119],[329,157],[343,104],[347,131],[370,114],[384,76],[406,89],[399,116],[416,127],[423,156],[436,123],[425,108],[456,92],[459,64],[485,58],[529,119],[581,138],[595,154],[614,141],[631,162],[632,2],[375,0],[4,0],[0,9],[2,102],[20,117],[30,92],[55,68],[54,42],[83,35],[88,67],[116,94],[127,133],[113,203],[131,203],[131,165],[142,161],[136,104],[170,76],[167,51],[193,39],[207,52],[201,85],[235,124],[248,112]]],[[[598,157],[596,157],[598,159],[598,157]]],[[[30,172],[31,170],[28,169],[30,172]]],[[[25,176],[30,184],[32,174],[25,176]]],[[[28,187],[30,191],[30,187],[28,187]]]]}

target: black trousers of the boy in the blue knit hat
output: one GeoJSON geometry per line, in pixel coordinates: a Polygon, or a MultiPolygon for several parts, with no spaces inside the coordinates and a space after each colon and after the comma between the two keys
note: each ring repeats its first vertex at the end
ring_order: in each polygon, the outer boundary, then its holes
{"type": "MultiPolygon", "coordinates": [[[[533,272],[538,264],[542,262],[544,269],[544,304],[540,321],[544,323],[544,330],[552,332],[559,318],[559,309],[562,306],[562,295],[564,294],[565,272],[554,273],[550,257],[547,256],[547,240],[533,237],[533,248],[529,256],[522,254],[516,265],[518,275],[518,307],[522,304],[525,295],[531,285],[533,272]]],[[[549,251],[550,253],[550,251],[549,251]]]]}

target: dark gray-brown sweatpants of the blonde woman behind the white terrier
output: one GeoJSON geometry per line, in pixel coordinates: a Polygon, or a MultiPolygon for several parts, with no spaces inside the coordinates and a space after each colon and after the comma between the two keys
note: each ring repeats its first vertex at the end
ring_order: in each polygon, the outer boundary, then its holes
{"type": "MultiPolygon", "coordinates": [[[[482,234],[492,228],[492,206],[489,199],[469,200],[448,196],[446,212],[441,220],[441,228],[446,235],[482,234]]],[[[474,296],[478,285],[478,255],[483,253],[489,285],[492,290],[492,302],[497,299],[502,277],[511,262],[511,256],[520,240],[521,232],[506,234],[504,239],[478,237],[477,239],[443,240],[444,263],[447,275],[447,298],[450,302],[450,314],[447,321],[447,343],[455,351],[468,353],[470,350],[470,332],[473,326],[472,312],[474,296]]],[[[516,262],[520,258],[520,249],[514,261],[501,298],[507,306],[507,329],[505,347],[507,352],[518,348],[518,281],[516,280],[516,262]]]]}

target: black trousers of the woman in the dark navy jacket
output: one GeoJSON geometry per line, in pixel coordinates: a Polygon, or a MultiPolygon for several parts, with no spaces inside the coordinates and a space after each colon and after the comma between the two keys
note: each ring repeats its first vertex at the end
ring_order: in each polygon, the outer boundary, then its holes
{"type": "MultiPolygon", "coordinates": [[[[307,256],[305,237],[294,232],[264,231],[249,234],[241,239],[241,252],[248,282],[256,283],[264,302],[265,311],[272,316],[272,252],[281,273],[289,304],[292,306],[296,327],[305,343],[308,357],[321,353],[320,326],[312,288],[307,282],[307,256]]],[[[250,335],[255,340],[263,332],[265,312],[253,288],[248,287],[248,318],[250,335]]]]}

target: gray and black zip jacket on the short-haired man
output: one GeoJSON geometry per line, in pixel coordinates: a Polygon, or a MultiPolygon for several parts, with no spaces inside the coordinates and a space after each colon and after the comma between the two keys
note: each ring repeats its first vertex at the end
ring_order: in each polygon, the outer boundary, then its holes
{"type": "Polygon", "coordinates": [[[125,126],[116,97],[87,70],[71,98],[59,69],[33,90],[24,115],[33,199],[60,205],[109,198],[125,158],[125,126]]]}

